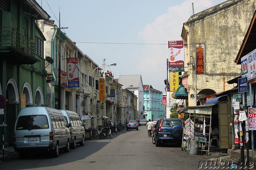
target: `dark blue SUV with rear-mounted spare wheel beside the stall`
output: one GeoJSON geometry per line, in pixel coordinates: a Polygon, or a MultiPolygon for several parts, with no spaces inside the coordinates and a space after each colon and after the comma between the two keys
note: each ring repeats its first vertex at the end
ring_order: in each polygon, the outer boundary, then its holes
{"type": "Polygon", "coordinates": [[[183,126],[181,119],[163,118],[154,126],[152,143],[160,146],[162,143],[182,144],[183,126]]]}

